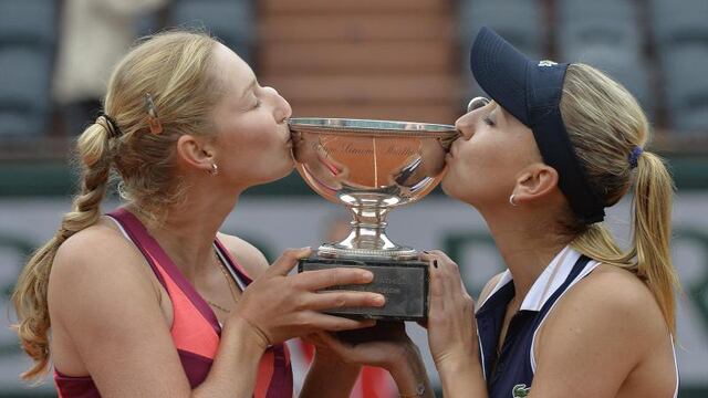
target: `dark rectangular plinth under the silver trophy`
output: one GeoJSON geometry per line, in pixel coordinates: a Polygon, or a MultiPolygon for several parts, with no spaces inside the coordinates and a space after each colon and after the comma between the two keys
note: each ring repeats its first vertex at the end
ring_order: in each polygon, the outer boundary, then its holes
{"type": "Polygon", "coordinates": [[[381,321],[421,321],[428,316],[428,263],[421,261],[379,259],[331,259],[313,255],[300,260],[298,272],[332,268],[358,268],[374,274],[365,285],[340,285],[327,290],[381,293],[383,307],[346,307],[325,311],[327,314],[381,321]]]}

